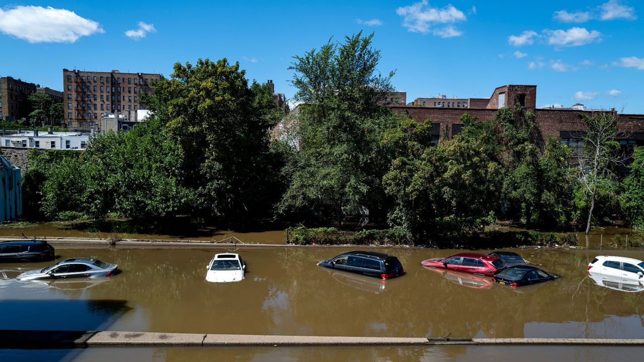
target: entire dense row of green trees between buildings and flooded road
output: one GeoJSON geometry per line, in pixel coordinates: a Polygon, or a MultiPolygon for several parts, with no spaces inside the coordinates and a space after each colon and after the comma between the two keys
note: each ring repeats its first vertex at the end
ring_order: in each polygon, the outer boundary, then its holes
{"type": "MultiPolygon", "coordinates": [[[[619,180],[611,162],[592,164],[588,142],[583,157],[554,138],[541,144],[534,113],[520,106],[485,122],[464,114],[459,135],[435,144],[431,120],[381,106],[393,72],[377,70],[372,36],[294,57],[300,106],[289,139],[271,137],[284,115],[238,63],[175,64],[143,100],[152,116],[133,131],[96,135],[84,153],[32,153],[26,211],[337,227],[368,217],[419,241],[458,240],[497,220],[562,229],[621,218],[644,227],[641,148],[619,180]]],[[[587,137],[593,117],[584,119],[587,137]]],[[[603,121],[616,125],[616,117],[603,121]]],[[[616,139],[596,140],[613,159],[616,139]]]]}

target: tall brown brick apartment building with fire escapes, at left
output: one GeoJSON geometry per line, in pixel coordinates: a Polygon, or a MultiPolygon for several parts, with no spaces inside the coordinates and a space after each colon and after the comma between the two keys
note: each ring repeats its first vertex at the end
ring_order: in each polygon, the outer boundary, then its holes
{"type": "Polygon", "coordinates": [[[100,128],[104,113],[145,110],[142,94],[153,93],[152,86],[163,76],[153,73],[62,70],[67,127],[100,128]]]}

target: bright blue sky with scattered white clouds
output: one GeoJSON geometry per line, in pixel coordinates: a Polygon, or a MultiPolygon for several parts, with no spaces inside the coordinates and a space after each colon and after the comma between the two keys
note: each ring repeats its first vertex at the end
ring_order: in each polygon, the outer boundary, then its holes
{"type": "Polygon", "coordinates": [[[538,107],[644,113],[644,5],[562,3],[18,1],[0,10],[0,75],[60,90],[62,68],[168,76],[175,62],[226,57],[291,97],[293,55],[364,30],[408,102],[536,84],[538,107]]]}

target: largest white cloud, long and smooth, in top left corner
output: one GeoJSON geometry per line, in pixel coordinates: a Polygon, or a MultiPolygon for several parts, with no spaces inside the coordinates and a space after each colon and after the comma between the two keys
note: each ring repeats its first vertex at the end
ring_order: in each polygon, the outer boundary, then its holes
{"type": "Polygon", "coordinates": [[[29,43],[74,43],[80,37],[104,33],[100,24],[66,9],[51,6],[0,8],[0,32],[29,43]]]}

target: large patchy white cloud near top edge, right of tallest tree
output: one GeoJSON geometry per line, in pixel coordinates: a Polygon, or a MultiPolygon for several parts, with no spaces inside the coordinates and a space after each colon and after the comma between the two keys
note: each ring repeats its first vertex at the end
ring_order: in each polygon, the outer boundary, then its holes
{"type": "Polygon", "coordinates": [[[456,37],[462,35],[462,32],[454,26],[433,29],[436,24],[453,24],[467,20],[465,14],[453,5],[450,4],[439,9],[431,7],[427,0],[397,8],[396,14],[403,17],[403,26],[407,28],[408,32],[426,34],[431,31],[440,37],[456,37]]]}

